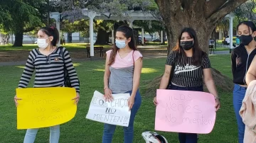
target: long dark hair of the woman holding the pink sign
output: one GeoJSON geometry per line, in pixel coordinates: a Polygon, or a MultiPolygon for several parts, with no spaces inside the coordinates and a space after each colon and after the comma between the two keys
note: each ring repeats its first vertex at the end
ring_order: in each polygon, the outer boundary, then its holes
{"type": "MultiPolygon", "coordinates": [[[[192,55],[192,64],[194,65],[201,65],[201,62],[202,62],[202,57],[204,55],[206,55],[206,52],[203,52],[203,50],[201,50],[201,48],[199,47],[199,44],[198,44],[198,38],[196,36],[196,31],[193,30],[193,28],[183,28],[183,30],[181,30],[181,34],[178,36],[178,42],[176,44],[176,47],[173,48],[173,50],[175,52],[178,53],[178,55],[183,55],[183,57],[185,57],[185,63],[188,62],[188,57],[186,56],[186,53],[185,51],[183,50],[182,47],[180,47],[180,44],[181,44],[181,36],[183,33],[188,33],[188,35],[193,38],[193,47],[192,47],[192,50],[193,50],[193,55],[192,55]]],[[[181,62],[181,57],[182,56],[178,56],[178,60],[180,60],[181,62]]],[[[185,64],[183,63],[183,64],[185,64]]]]}

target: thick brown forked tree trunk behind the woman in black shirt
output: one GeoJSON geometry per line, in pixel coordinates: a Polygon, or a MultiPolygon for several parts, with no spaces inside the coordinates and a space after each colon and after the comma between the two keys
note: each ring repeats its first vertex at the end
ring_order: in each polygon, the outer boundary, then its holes
{"type": "MultiPolygon", "coordinates": [[[[210,34],[225,15],[243,4],[246,0],[155,0],[166,26],[168,48],[175,47],[182,28],[196,30],[199,46],[208,52],[210,34]]],[[[170,50],[168,50],[170,51],[170,50]]]]}

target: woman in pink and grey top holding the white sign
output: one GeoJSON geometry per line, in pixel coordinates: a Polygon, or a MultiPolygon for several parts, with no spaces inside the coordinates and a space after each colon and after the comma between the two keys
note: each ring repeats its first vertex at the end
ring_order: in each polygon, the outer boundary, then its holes
{"type": "MultiPolygon", "coordinates": [[[[124,143],[132,143],[134,118],[142,103],[139,79],[142,72],[142,54],[135,46],[132,28],[123,25],[117,28],[115,45],[107,51],[104,74],[106,101],[112,101],[112,93],[129,93],[131,110],[128,127],[124,127],[124,143]]],[[[102,143],[111,143],[116,125],[105,124],[102,143]]]]}

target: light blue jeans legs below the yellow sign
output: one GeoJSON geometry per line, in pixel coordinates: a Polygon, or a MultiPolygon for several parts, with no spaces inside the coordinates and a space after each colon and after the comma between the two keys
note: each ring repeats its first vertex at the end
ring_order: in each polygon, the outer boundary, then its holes
{"type": "MultiPolygon", "coordinates": [[[[38,129],[28,129],[23,143],[33,143],[36,139],[38,129]]],[[[58,143],[60,139],[60,125],[50,127],[50,143],[58,143]]]]}

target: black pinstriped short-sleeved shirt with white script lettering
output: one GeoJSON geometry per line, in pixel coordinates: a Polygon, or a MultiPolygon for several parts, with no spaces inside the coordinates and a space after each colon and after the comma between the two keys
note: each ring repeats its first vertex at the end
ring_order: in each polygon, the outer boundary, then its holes
{"type": "Polygon", "coordinates": [[[181,60],[175,59],[176,53],[177,52],[171,52],[166,59],[167,65],[175,65],[174,76],[171,79],[171,83],[175,84],[176,86],[184,87],[203,86],[203,69],[210,68],[210,60],[208,56],[203,55],[201,65],[196,66],[192,64],[191,57],[188,57],[187,62],[183,55],[181,60]]]}

